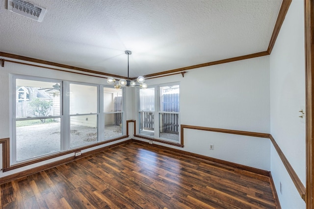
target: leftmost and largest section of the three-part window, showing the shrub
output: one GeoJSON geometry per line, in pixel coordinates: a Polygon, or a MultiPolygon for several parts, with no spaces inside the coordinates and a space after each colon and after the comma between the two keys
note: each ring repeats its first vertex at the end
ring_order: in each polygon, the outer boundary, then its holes
{"type": "Polygon", "coordinates": [[[13,161],[60,151],[61,82],[16,78],[14,86],[13,161]]]}

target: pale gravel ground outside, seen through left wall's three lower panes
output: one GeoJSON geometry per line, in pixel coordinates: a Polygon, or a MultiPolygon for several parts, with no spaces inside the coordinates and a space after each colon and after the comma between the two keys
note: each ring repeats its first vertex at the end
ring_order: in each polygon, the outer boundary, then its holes
{"type": "MultiPolygon", "coordinates": [[[[60,151],[60,123],[47,123],[16,128],[17,161],[60,151]]],[[[106,126],[105,139],[121,136],[120,126],[106,126]]],[[[70,146],[97,141],[97,129],[71,125],[70,146]]]]}

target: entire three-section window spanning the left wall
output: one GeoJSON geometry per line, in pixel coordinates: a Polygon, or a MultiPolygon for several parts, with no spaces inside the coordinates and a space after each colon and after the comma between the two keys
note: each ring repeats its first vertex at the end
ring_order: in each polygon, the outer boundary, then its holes
{"type": "Polygon", "coordinates": [[[122,89],[12,78],[12,164],[123,136],[122,89]]]}

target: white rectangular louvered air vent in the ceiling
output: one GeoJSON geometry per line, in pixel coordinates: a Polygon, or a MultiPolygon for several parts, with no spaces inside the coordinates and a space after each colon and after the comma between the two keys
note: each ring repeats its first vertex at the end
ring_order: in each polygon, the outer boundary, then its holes
{"type": "Polygon", "coordinates": [[[46,9],[24,0],[8,0],[8,10],[30,19],[42,22],[46,9]]]}

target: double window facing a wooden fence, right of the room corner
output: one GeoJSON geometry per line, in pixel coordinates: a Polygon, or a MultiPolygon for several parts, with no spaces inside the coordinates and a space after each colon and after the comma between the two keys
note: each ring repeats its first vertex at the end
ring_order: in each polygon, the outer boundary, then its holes
{"type": "Polygon", "coordinates": [[[179,98],[177,83],[140,89],[139,134],[179,142],[179,98]]]}

